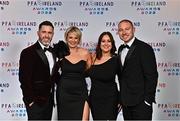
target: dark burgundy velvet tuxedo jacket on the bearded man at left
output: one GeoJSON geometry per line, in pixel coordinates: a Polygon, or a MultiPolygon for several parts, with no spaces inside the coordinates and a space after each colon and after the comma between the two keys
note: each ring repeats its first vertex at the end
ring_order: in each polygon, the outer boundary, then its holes
{"type": "Polygon", "coordinates": [[[54,90],[55,73],[53,70],[50,75],[47,57],[38,42],[21,52],[19,64],[19,81],[25,104],[33,101],[45,103],[54,90]]]}

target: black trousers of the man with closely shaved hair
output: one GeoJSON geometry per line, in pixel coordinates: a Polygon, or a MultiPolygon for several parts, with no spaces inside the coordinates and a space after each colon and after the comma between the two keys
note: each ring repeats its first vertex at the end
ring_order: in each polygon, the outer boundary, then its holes
{"type": "Polygon", "coordinates": [[[141,102],[135,106],[122,106],[124,120],[152,120],[152,105],[141,102]]]}

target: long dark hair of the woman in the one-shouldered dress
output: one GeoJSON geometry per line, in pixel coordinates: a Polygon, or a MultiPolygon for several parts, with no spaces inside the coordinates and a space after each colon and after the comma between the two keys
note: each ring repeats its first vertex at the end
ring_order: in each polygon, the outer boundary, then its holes
{"type": "Polygon", "coordinates": [[[112,36],[112,34],[110,32],[103,32],[100,34],[99,36],[99,39],[98,39],[98,43],[97,43],[97,46],[96,46],[96,58],[97,59],[101,59],[102,57],[102,50],[100,48],[100,45],[101,45],[101,41],[102,41],[102,38],[104,37],[104,35],[108,35],[109,38],[110,38],[110,41],[111,41],[111,44],[112,44],[112,48],[111,48],[111,55],[114,55],[115,54],[115,51],[116,51],[116,45],[115,45],[115,41],[114,41],[114,38],[112,36]]]}

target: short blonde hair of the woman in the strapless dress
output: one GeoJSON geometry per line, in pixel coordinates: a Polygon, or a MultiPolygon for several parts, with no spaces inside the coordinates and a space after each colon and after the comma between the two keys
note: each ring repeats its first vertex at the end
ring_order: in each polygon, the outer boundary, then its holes
{"type": "Polygon", "coordinates": [[[81,32],[81,30],[80,30],[78,27],[76,27],[76,26],[70,26],[69,28],[67,28],[67,30],[66,30],[66,32],[65,32],[65,34],[64,34],[65,40],[67,41],[68,34],[69,34],[69,33],[72,33],[72,32],[76,33],[76,35],[77,35],[77,37],[78,37],[78,39],[79,39],[79,43],[80,43],[80,42],[81,42],[81,37],[82,37],[82,32],[81,32]]]}

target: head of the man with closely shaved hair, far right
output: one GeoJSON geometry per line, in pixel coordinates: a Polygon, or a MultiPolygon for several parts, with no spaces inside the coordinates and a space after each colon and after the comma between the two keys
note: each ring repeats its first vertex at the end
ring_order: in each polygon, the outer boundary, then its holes
{"type": "Polygon", "coordinates": [[[135,28],[132,23],[122,21],[118,24],[118,34],[121,40],[128,43],[134,37],[135,28]]]}

